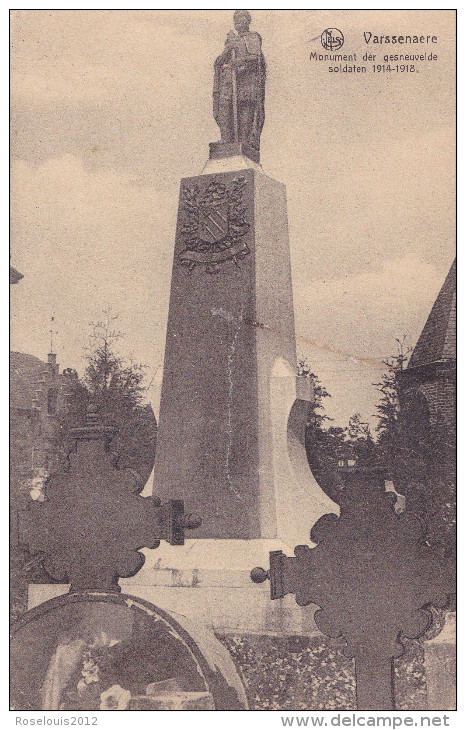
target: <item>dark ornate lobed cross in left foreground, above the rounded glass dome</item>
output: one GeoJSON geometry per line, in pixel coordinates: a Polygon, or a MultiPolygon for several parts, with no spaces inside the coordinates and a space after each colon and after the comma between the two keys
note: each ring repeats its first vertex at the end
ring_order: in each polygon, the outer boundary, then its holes
{"type": "Polygon", "coordinates": [[[20,517],[20,542],[42,552],[46,571],[71,583],[70,592],[119,591],[118,579],[144,564],[141,548],[156,548],[161,539],[183,544],[184,530],[200,524],[184,515],[182,500],[162,505],[138,496],[137,475],[116,469],[108,449],[116,431],[89,406],[85,426],[71,431],[76,449],[68,468],[47,482],[45,501],[31,503],[20,517]]]}

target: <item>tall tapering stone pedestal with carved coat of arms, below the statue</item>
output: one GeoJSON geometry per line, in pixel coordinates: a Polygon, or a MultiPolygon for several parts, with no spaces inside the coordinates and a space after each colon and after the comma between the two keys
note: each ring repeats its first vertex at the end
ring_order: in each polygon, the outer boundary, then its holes
{"type": "Polygon", "coordinates": [[[196,538],[308,542],[336,511],[307,465],[311,398],[284,186],[257,169],[182,180],[154,493],[202,517],[196,538]]]}

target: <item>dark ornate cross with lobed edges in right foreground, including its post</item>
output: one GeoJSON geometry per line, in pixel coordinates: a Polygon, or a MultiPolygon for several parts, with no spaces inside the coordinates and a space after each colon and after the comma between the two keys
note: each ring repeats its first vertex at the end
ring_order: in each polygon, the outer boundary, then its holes
{"type": "Polygon", "coordinates": [[[385,470],[341,470],[341,514],[324,515],[311,530],[316,547],[298,545],[295,557],[270,553],[270,569],[251,579],[270,579],[271,598],[294,593],[300,606],[316,603],[318,628],[343,636],[354,657],[359,710],[391,710],[393,658],[403,637],[418,638],[431,622],[428,604],[446,605],[454,592],[452,571],[437,559],[415,516],[393,509],[385,470]]]}

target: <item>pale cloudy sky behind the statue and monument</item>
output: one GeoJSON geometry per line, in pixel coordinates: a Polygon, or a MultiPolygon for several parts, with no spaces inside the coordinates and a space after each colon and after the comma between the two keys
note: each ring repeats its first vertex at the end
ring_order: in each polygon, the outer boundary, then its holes
{"type": "MultiPolygon", "coordinates": [[[[255,10],[267,60],[264,172],[287,187],[297,351],[344,425],[373,423],[373,383],[415,344],[455,255],[451,10],[255,10]],[[364,31],[435,34],[418,73],[329,74],[364,31]]],[[[11,25],[11,349],[83,370],[90,322],[119,313],[123,349],[163,362],[180,179],[199,174],[213,61],[232,11],[15,10],[11,25]]],[[[418,52],[416,47],[403,47],[418,52]]],[[[366,63],[370,68],[371,63],[366,63]]],[[[392,64],[393,65],[393,64],[392,64]]]]}

